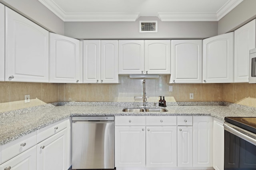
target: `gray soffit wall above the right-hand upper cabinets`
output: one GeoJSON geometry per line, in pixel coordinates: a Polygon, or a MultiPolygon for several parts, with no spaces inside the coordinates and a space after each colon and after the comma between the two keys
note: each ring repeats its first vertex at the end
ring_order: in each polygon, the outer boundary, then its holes
{"type": "Polygon", "coordinates": [[[218,34],[234,31],[256,18],[256,0],[244,0],[218,21],[218,34]]]}

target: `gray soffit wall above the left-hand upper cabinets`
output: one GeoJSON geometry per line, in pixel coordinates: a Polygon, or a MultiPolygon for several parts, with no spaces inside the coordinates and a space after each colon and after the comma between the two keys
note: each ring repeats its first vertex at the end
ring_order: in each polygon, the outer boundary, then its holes
{"type": "Polygon", "coordinates": [[[64,22],[38,0],[0,0],[0,2],[45,29],[64,35],[64,22]]]}

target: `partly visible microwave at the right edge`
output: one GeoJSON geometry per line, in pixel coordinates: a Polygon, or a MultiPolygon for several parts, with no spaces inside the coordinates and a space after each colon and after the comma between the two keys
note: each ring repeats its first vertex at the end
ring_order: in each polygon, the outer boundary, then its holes
{"type": "Polygon", "coordinates": [[[249,83],[256,83],[256,49],[250,50],[249,83]]]}

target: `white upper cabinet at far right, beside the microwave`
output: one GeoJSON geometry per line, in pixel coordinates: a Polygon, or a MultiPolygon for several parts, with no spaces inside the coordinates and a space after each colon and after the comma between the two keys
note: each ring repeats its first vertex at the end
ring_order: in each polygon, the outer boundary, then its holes
{"type": "Polygon", "coordinates": [[[234,82],[249,81],[249,50],[255,48],[255,20],[234,31],[234,82]]]}

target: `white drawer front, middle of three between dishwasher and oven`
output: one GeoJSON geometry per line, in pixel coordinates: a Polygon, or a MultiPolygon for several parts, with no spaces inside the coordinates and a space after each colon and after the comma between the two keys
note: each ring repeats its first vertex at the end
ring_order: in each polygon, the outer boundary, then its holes
{"type": "Polygon", "coordinates": [[[177,117],[176,116],[147,116],[146,125],[147,126],[176,126],[177,117]]]}

